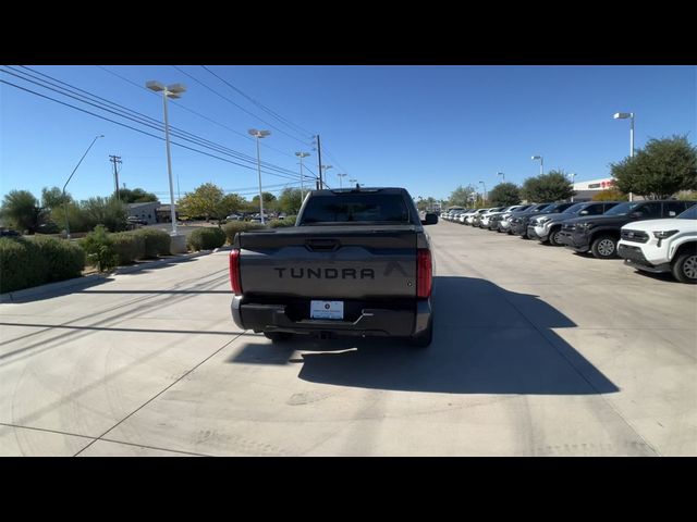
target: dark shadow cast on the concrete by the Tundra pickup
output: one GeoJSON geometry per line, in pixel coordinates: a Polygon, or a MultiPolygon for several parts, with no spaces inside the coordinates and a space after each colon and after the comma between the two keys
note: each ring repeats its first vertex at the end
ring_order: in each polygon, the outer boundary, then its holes
{"type": "Polygon", "coordinates": [[[429,348],[394,338],[297,337],[279,345],[247,343],[229,362],[297,362],[304,381],[377,389],[539,395],[619,390],[554,333],[576,325],[537,296],[473,277],[435,277],[433,296],[429,348]]]}

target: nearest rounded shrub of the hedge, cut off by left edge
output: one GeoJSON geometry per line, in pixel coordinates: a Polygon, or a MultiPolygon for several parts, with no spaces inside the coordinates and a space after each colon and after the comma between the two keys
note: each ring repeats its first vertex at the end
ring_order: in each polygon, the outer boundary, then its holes
{"type": "Polygon", "coordinates": [[[0,237],[0,293],[21,290],[48,281],[48,261],[34,241],[0,237]]]}

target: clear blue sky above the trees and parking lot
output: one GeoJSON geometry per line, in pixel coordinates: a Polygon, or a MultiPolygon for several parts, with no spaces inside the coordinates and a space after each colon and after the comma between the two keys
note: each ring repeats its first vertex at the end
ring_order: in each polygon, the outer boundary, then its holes
{"type": "MultiPolygon", "coordinates": [[[[367,186],[404,186],[414,197],[438,199],[457,185],[479,181],[489,190],[500,181],[497,172],[519,184],[539,173],[533,154],[545,157],[546,171],[575,172],[576,182],[608,176],[609,163],[627,156],[629,148],[629,123],[613,120],[614,112],[636,113],[636,148],[673,134],[688,133],[696,141],[695,66],[210,66],[303,129],[264,112],[199,65],[181,65],[181,71],[171,65],[105,67],[125,79],[94,65],[19,71],[49,75],[158,122],[161,96],[142,86],[148,79],[185,84],[181,100],[169,103],[170,125],[249,161],[223,156],[245,169],[173,146],[175,196],[179,177],[182,196],[212,182],[250,199],[257,185],[256,146],[247,135],[252,127],[271,130],[261,141],[261,160],[290,176],[277,177],[265,169],[262,183],[277,194],[284,184],[297,186],[295,151],[310,152],[305,162],[317,173],[311,135],[319,133],[322,163],[333,165],[327,177],[332,187],[339,186],[337,174],[346,173],[344,184],[354,177],[367,186]]],[[[0,79],[162,136],[8,72],[0,79]]],[[[5,84],[0,84],[0,197],[12,189],[39,197],[41,187],[62,187],[93,138],[103,134],[68,191],[76,199],[110,195],[109,154],[117,154],[123,161],[120,182],[169,202],[162,140],[5,84]]]]}

